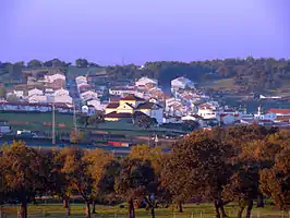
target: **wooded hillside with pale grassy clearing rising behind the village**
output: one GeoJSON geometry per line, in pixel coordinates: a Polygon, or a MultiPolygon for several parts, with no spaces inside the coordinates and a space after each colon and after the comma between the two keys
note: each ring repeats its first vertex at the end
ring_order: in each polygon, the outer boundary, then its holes
{"type": "MultiPolygon", "coordinates": [[[[33,61],[35,62],[35,60],[33,61]]],[[[33,68],[31,62],[28,62],[28,66],[22,65],[21,68],[33,68]]],[[[59,62],[62,63],[60,60],[59,62]]],[[[39,68],[40,62],[35,64],[39,68]]],[[[21,76],[20,68],[14,68],[14,65],[0,62],[0,81],[21,76]]],[[[246,59],[192,61],[190,63],[158,61],[146,62],[142,69],[134,64],[109,66],[93,64],[80,68],[64,63],[60,68],[67,72],[69,77],[102,71],[106,71],[114,81],[148,76],[157,78],[164,88],[170,86],[171,80],[186,76],[197,83],[200,87],[209,90],[266,92],[269,94],[290,92],[290,60],[286,59],[249,57],[246,59]]]]}

